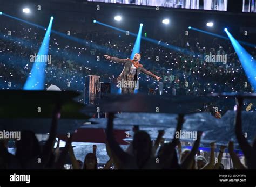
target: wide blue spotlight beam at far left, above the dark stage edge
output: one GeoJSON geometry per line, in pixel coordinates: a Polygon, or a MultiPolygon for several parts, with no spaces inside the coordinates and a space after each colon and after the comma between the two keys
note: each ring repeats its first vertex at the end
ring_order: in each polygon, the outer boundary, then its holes
{"type": "MultiPolygon", "coordinates": [[[[39,57],[48,55],[52,21],[53,21],[53,18],[51,18],[50,20],[50,23],[48,25],[48,28],[44,36],[44,40],[37,54],[39,57]]],[[[38,60],[38,58],[36,58],[35,62],[33,63],[34,64],[30,71],[30,75],[27,78],[23,89],[24,90],[43,90],[45,86],[45,68],[46,68],[47,62],[42,61],[42,59],[38,60]]]]}

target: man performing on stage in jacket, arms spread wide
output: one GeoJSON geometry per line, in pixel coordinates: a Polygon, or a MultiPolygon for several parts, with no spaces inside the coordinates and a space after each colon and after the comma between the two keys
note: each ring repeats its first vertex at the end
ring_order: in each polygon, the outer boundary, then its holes
{"type": "MultiPolygon", "coordinates": [[[[147,76],[150,76],[152,78],[156,78],[157,81],[159,81],[161,78],[157,75],[152,74],[150,71],[146,70],[142,64],[139,63],[140,61],[140,54],[136,53],[133,57],[133,60],[127,58],[127,59],[118,59],[116,57],[112,57],[109,55],[104,55],[106,57],[106,60],[112,60],[114,62],[124,64],[124,69],[122,73],[118,76],[117,81],[118,82],[137,82],[138,81],[138,75],[140,71],[144,73],[147,76]]],[[[123,85],[123,84],[122,84],[123,85]]],[[[126,85],[126,84],[125,84],[126,85]]],[[[134,93],[134,87],[121,87],[122,93],[134,93]]]]}

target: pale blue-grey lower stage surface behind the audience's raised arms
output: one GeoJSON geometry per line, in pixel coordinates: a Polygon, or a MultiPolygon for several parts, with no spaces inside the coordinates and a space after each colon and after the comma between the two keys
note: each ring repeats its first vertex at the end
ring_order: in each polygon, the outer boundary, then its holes
{"type": "MultiPolygon", "coordinates": [[[[156,139],[158,136],[158,130],[165,130],[163,136],[166,140],[171,140],[177,126],[177,114],[164,114],[164,113],[122,113],[116,114],[114,119],[115,129],[132,129],[134,125],[138,125],[140,130],[147,131],[152,139],[156,139]],[[132,119],[132,120],[131,120],[132,119]]],[[[234,119],[235,112],[228,111],[221,119],[213,117],[206,112],[188,114],[185,116],[185,122],[183,124],[183,131],[203,131],[203,137],[201,143],[207,145],[208,143],[215,141],[217,145],[223,145],[229,140],[233,140],[238,143],[234,134],[234,119]]],[[[253,142],[256,134],[256,127],[254,121],[256,120],[256,114],[254,112],[242,112],[243,132],[248,132],[248,141],[253,142]]],[[[91,118],[89,121],[96,123],[94,125],[86,124],[80,128],[102,128],[105,129],[107,125],[106,118],[91,118]]],[[[132,131],[129,131],[133,135],[132,131]]],[[[127,138],[125,140],[132,140],[127,138]]],[[[190,141],[189,139],[183,139],[183,141],[190,141]]]]}

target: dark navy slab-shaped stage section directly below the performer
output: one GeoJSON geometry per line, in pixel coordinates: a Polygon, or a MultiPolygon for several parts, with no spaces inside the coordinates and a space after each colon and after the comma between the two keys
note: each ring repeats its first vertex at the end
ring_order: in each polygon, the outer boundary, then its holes
{"type": "Polygon", "coordinates": [[[104,112],[193,113],[210,98],[196,96],[107,95],[99,100],[104,112]]]}

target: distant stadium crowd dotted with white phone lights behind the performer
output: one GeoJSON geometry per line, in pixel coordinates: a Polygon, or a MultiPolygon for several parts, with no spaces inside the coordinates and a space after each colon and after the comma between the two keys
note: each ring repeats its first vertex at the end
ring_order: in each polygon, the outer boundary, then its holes
{"type": "MultiPolygon", "coordinates": [[[[32,64],[30,56],[37,54],[44,31],[19,25],[19,30],[8,35],[8,28],[0,31],[0,85],[1,89],[22,89],[32,64]]],[[[117,93],[115,79],[122,67],[105,61],[104,54],[130,57],[133,37],[109,32],[77,33],[77,41],[63,39],[52,33],[49,47],[51,62],[45,69],[45,88],[57,85],[62,90],[84,91],[84,77],[99,75],[102,82],[112,83],[112,93],[117,93]],[[82,41],[82,42],[81,42],[82,41]]],[[[179,37],[152,44],[142,41],[141,63],[146,69],[162,78],[164,94],[203,96],[213,92],[253,91],[237,54],[230,42],[210,39],[179,37]],[[177,49],[179,47],[179,49],[177,49]],[[205,55],[227,55],[226,62],[206,62],[205,55]]],[[[255,49],[250,49],[255,57],[255,49]]],[[[158,82],[145,75],[139,78],[140,93],[157,93],[158,82]]],[[[79,98],[83,102],[83,97],[79,98]]]]}

